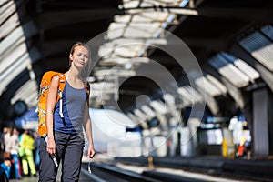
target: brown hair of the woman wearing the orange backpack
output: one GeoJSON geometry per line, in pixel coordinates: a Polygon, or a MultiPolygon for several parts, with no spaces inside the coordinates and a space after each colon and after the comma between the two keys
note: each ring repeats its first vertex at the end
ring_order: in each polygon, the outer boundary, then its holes
{"type": "Polygon", "coordinates": [[[72,47],[70,49],[70,54],[69,54],[69,67],[71,66],[71,62],[72,62],[72,60],[70,59],[70,55],[74,54],[76,46],[83,46],[88,50],[88,62],[87,62],[86,67],[83,69],[83,71],[81,73],[81,76],[83,78],[86,78],[86,77],[90,76],[90,74],[91,74],[91,67],[92,67],[91,49],[88,45],[86,45],[86,43],[83,43],[83,42],[76,42],[74,45],[72,45],[72,47]]]}

